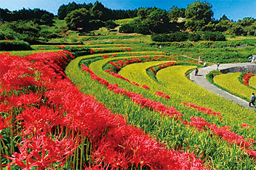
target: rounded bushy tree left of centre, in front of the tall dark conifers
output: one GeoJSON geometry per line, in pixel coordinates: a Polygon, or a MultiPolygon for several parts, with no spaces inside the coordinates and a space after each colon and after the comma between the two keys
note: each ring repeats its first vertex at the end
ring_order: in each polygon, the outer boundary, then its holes
{"type": "Polygon", "coordinates": [[[65,20],[67,22],[68,28],[77,30],[77,27],[83,27],[86,29],[90,18],[90,12],[88,12],[86,8],[81,8],[68,13],[67,17],[65,17],[65,20]]]}

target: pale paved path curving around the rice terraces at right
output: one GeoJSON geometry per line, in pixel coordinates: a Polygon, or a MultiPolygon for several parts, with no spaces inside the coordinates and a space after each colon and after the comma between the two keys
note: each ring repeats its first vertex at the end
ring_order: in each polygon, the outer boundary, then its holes
{"type": "MultiPolygon", "coordinates": [[[[249,66],[249,65],[255,65],[252,63],[232,63],[232,64],[222,64],[219,66],[219,70],[227,69],[227,68],[233,68],[237,66],[249,66]]],[[[231,95],[227,91],[223,91],[222,89],[214,86],[211,84],[211,82],[207,81],[205,78],[205,75],[212,70],[216,70],[217,65],[207,66],[204,68],[199,68],[198,76],[195,76],[195,70],[190,73],[190,80],[198,84],[199,86],[202,86],[203,88],[211,91],[212,93],[215,93],[217,95],[220,95],[221,97],[227,98],[228,100],[231,100],[235,102],[236,104],[243,105],[244,107],[249,107],[248,102],[245,100],[236,97],[234,95],[231,95]]]]}

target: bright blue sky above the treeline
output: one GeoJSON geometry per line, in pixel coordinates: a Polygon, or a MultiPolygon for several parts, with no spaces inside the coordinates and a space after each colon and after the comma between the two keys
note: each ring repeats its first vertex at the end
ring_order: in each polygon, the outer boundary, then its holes
{"type": "MultiPolygon", "coordinates": [[[[106,8],[134,10],[140,7],[156,6],[164,10],[170,10],[173,5],[178,8],[186,8],[188,4],[196,0],[99,0],[106,8]]],[[[61,4],[68,4],[72,0],[0,0],[0,8],[7,8],[10,11],[20,10],[23,7],[40,8],[52,12],[55,15],[58,13],[58,8],[61,4]]],[[[74,0],[76,3],[95,3],[95,0],[74,0]]],[[[214,19],[220,19],[225,14],[228,19],[237,21],[244,17],[253,17],[256,19],[256,0],[207,0],[212,5],[214,19]]]]}

